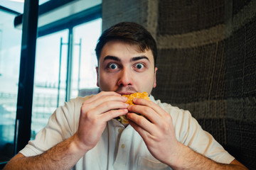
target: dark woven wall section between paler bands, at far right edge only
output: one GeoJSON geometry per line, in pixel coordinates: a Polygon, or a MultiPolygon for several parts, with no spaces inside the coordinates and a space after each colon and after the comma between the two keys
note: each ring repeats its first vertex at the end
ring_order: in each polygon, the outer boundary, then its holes
{"type": "Polygon", "coordinates": [[[256,96],[256,16],[235,31],[225,47],[228,97],[256,96]]]}

